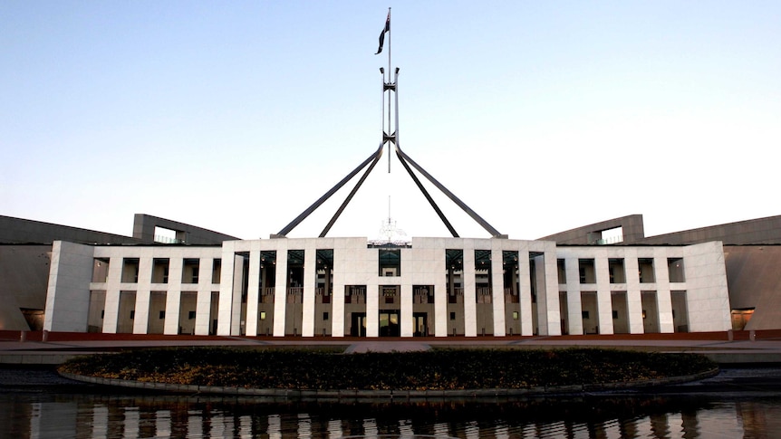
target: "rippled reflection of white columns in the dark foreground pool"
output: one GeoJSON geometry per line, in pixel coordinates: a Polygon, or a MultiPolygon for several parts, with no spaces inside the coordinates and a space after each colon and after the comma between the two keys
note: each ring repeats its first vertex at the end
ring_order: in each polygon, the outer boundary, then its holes
{"type": "Polygon", "coordinates": [[[159,396],[0,396],[8,437],[337,438],[764,437],[781,431],[781,399],[585,398],[408,404],[258,403],[159,396]],[[10,425],[8,427],[7,425],[10,425]]]}

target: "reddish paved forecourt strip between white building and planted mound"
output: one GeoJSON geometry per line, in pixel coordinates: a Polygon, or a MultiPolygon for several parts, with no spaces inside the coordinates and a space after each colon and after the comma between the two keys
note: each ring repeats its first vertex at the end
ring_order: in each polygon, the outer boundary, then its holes
{"type": "Polygon", "coordinates": [[[353,352],[448,348],[629,348],[698,352],[719,364],[781,364],[781,330],[640,335],[428,338],[302,338],[85,334],[0,330],[0,364],[54,365],[68,358],[124,348],[173,346],[331,346],[353,352]]]}

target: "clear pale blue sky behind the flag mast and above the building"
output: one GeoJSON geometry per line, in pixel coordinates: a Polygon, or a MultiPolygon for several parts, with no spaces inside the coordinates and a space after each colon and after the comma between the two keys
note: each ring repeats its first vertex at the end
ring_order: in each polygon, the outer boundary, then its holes
{"type": "MultiPolygon", "coordinates": [[[[0,3],[0,215],[275,234],[379,145],[388,6],[401,148],[501,233],[781,215],[781,2],[64,0],[0,3]]],[[[448,236],[391,168],[330,236],[448,236]]]]}

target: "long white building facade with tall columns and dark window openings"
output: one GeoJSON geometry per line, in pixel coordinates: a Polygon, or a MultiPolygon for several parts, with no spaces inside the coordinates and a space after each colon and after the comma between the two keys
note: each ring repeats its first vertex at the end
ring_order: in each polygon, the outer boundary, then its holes
{"type": "Polygon", "coordinates": [[[731,328],[720,242],[56,241],[48,285],[51,331],[341,338],[731,328]]]}

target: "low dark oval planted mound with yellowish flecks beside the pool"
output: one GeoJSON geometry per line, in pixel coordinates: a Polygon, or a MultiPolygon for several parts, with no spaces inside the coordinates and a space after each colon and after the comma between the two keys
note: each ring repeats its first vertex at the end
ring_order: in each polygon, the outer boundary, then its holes
{"type": "Polygon", "coordinates": [[[198,386],[456,390],[608,384],[689,376],[716,367],[697,354],[603,348],[438,348],[349,355],[323,349],[149,348],[73,358],[59,370],[198,386]]]}

